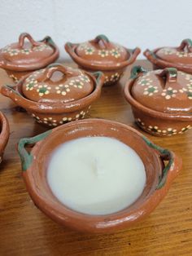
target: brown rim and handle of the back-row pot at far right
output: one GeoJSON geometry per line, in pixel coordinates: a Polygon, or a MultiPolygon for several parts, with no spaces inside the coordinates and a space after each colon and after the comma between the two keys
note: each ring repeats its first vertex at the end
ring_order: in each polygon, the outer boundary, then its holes
{"type": "Polygon", "coordinates": [[[155,48],[154,50],[146,49],[146,51],[143,52],[143,55],[146,56],[147,60],[150,60],[152,64],[155,64],[159,66],[160,68],[177,68],[178,70],[184,70],[184,69],[190,69],[192,72],[192,64],[180,64],[177,62],[168,62],[167,60],[159,58],[159,56],[156,55],[156,52],[163,49],[164,47],[155,48]]]}

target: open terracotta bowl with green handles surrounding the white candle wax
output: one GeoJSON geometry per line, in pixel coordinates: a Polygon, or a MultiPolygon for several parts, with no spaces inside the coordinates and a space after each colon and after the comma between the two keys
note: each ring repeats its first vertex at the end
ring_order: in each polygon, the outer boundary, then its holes
{"type": "Polygon", "coordinates": [[[159,148],[129,126],[102,119],[74,121],[36,137],[20,139],[18,151],[24,182],[34,204],[55,222],[81,232],[114,232],[142,220],[164,198],[172,180],[181,170],[181,159],[173,152],[159,148]],[[51,153],[61,143],[85,136],[119,139],[142,158],[146,169],[146,186],[133,205],[115,214],[81,214],[61,204],[50,191],[46,171],[51,153]],[[26,150],[27,146],[31,152],[26,150]]]}

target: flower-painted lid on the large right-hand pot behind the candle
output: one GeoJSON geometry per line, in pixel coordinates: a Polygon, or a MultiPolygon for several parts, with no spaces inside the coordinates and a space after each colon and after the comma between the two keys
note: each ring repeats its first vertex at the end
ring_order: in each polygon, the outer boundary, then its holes
{"type": "Polygon", "coordinates": [[[131,94],[140,104],[164,113],[192,113],[192,75],[164,68],[147,72],[137,66],[131,94]]]}

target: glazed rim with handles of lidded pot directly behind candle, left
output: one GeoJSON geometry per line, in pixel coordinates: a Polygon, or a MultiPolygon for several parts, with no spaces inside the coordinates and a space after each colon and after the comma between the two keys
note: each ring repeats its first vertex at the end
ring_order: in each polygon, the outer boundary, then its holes
{"type": "Polygon", "coordinates": [[[69,101],[67,103],[62,102],[50,102],[50,103],[43,103],[33,101],[31,99],[27,99],[22,95],[20,92],[21,86],[23,85],[24,80],[28,77],[28,75],[22,77],[20,81],[15,86],[2,86],[1,92],[2,95],[5,95],[11,98],[15,104],[19,105],[20,107],[34,111],[36,113],[72,113],[73,111],[80,110],[81,108],[86,108],[90,104],[94,102],[94,100],[98,99],[101,95],[101,89],[103,87],[104,76],[102,72],[95,72],[95,73],[88,73],[84,71],[87,76],[89,76],[94,82],[94,90],[87,96],[82,99],[76,99],[74,101],[69,101]],[[98,75],[99,81],[97,82],[97,78],[94,75],[98,75]],[[17,99],[17,96],[22,100],[17,99]],[[24,101],[24,102],[23,102],[24,101]],[[27,106],[26,106],[27,104],[27,106]]]}

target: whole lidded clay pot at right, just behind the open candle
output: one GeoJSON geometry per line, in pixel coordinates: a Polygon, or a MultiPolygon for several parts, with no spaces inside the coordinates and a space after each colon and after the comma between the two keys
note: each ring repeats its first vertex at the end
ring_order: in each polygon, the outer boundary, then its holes
{"type": "Polygon", "coordinates": [[[155,136],[183,134],[192,126],[192,75],[164,68],[131,71],[124,95],[137,125],[155,136]]]}

